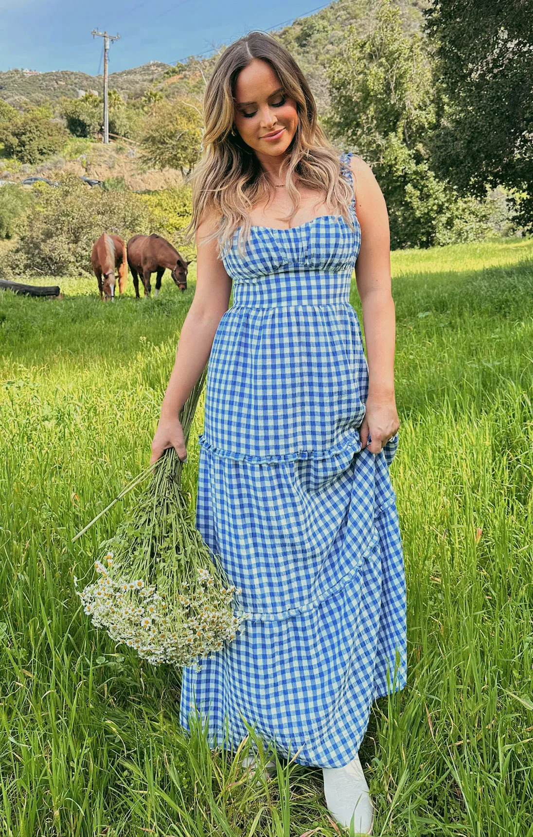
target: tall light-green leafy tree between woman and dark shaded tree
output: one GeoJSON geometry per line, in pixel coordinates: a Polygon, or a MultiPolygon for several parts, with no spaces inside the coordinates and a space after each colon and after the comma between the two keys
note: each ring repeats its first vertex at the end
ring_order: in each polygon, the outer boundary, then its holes
{"type": "Polygon", "coordinates": [[[329,131],[372,167],[389,210],[391,247],[429,247],[448,243],[453,230],[464,240],[466,231],[472,237],[485,229],[488,208],[460,198],[432,171],[432,69],[421,36],[403,33],[391,0],[382,0],[368,37],[349,27],[344,54],[329,64],[329,85],[329,131]]]}

